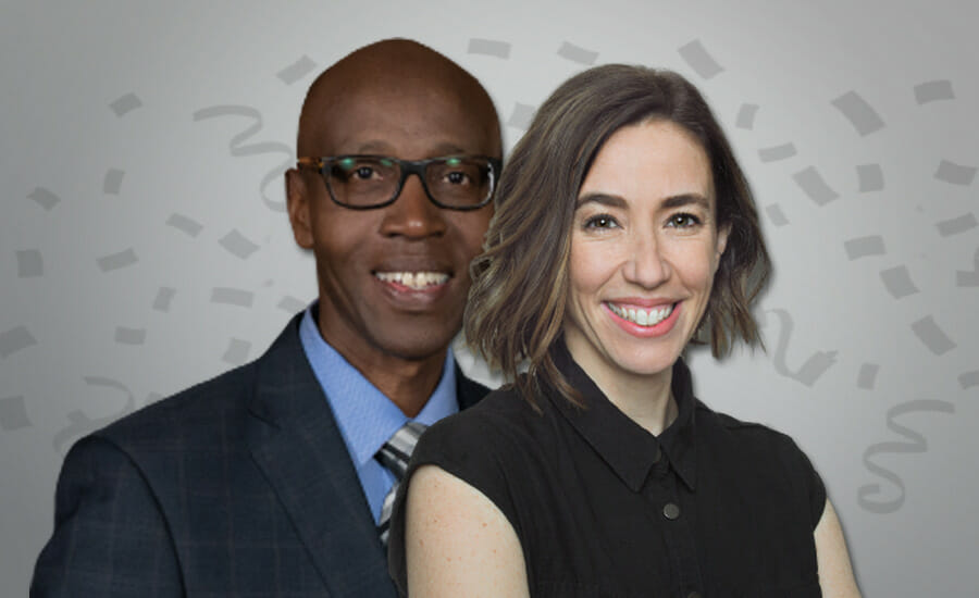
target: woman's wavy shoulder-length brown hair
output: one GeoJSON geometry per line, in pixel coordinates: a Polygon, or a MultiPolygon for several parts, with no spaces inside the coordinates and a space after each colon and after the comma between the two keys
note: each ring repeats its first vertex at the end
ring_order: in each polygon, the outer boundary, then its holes
{"type": "Polygon", "coordinates": [[[747,180],[699,91],[670,71],[608,64],[561,85],[534,116],[504,169],[484,252],[471,266],[464,331],[470,347],[533,399],[549,387],[580,403],[550,348],[560,337],[568,297],[574,208],[595,155],[617,130],[643,122],[676,123],[710,160],[717,224],[728,245],[695,338],[715,357],[740,337],[760,342],[751,304],[771,263],[747,180]],[[517,376],[526,362],[528,375],[517,376]]]}

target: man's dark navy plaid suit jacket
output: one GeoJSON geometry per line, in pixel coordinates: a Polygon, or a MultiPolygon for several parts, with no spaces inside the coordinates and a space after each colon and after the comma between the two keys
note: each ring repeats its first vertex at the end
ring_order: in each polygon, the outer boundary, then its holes
{"type": "Polygon", "coordinates": [[[30,596],[397,596],[298,331],[79,440],[30,596]]]}

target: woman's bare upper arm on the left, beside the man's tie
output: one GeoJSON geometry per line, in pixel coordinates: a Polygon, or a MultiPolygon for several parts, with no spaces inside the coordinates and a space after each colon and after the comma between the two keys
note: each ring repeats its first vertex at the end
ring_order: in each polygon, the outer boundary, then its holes
{"type": "Polygon", "coordinates": [[[506,515],[437,466],[411,476],[405,550],[411,598],[530,596],[523,550],[506,515]]]}

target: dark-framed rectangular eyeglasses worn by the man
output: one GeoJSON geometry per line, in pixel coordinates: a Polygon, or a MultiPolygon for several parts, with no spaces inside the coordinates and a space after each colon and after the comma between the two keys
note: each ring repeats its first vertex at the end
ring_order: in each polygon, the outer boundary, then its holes
{"type": "Polygon", "coordinates": [[[330,198],[352,210],[394,203],[408,175],[417,174],[429,199],[448,210],[476,210],[490,203],[501,162],[485,155],[398,160],[385,155],[300,158],[299,169],[323,176],[330,198]]]}

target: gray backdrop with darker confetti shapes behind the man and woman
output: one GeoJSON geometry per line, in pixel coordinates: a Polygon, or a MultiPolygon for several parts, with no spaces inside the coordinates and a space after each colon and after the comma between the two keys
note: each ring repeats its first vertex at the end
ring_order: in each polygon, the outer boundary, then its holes
{"type": "Polygon", "coordinates": [[[256,358],[313,297],[282,212],[299,105],[389,36],[480,77],[508,148],[591,64],[698,85],[777,267],[768,351],[694,354],[698,395],[797,439],[866,595],[976,595],[974,2],[61,4],[0,14],[2,595],[71,443],[256,358]]]}

